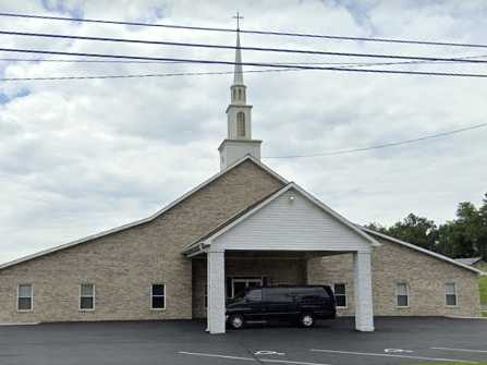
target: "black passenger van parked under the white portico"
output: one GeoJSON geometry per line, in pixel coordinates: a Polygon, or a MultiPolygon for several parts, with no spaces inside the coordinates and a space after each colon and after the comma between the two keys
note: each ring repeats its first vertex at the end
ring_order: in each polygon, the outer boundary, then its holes
{"type": "Polygon", "coordinates": [[[326,285],[253,288],[227,304],[227,324],[234,329],[273,320],[313,327],[316,319],[336,315],[334,295],[326,285]]]}

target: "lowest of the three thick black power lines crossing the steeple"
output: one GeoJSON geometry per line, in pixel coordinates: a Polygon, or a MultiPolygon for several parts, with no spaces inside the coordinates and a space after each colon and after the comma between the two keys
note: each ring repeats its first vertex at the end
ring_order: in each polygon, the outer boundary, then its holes
{"type": "MultiPolygon", "coordinates": [[[[47,51],[47,50],[20,49],[20,48],[0,48],[0,51],[35,53],[35,54],[112,58],[112,59],[127,59],[127,60],[181,61],[181,62],[187,62],[187,63],[202,63],[202,64],[230,64],[230,65],[236,64],[235,62],[231,62],[231,61],[204,60],[204,59],[180,59],[180,58],[142,57],[142,56],[129,56],[129,54],[64,52],[64,51],[47,51]]],[[[282,63],[279,64],[279,63],[260,63],[260,62],[242,62],[240,64],[248,65],[248,66],[257,66],[257,68],[276,68],[276,69],[282,68],[282,69],[296,69],[296,70],[320,70],[320,71],[362,72],[362,73],[381,73],[381,74],[406,74],[406,75],[424,75],[424,76],[480,77],[480,78],[487,77],[487,74],[479,74],[479,73],[354,69],[354,68],[316,66],[316,65],[303,65],[303,64],[285,65],[282,63]]]]}

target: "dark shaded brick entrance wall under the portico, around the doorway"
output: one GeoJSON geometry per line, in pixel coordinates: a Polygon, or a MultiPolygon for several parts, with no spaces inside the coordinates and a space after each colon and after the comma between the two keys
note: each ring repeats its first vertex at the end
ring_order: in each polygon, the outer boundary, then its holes
{"type": "MultiPolygon", "coordinates": [[[[226,277],[266,277],[269,285],[305,284],[306,261],[294,258],[226,258],[226,277]]],[[[193,261],[193,316],[206,317],[206,259],[193,261]]]]}

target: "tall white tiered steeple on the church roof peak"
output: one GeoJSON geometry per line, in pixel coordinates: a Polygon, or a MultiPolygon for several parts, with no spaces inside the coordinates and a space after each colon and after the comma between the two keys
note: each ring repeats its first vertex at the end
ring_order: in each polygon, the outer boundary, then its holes
{"type": "MultiPolygon", "coordinates": [[[[236,15],[238,21],[240,17],[236,15]]],[[[230,105],[227,108],[228,134],[218,150],[220,168],[224,170],[245,155],[260,159],[261,141],[252,139],[252,106],[247,105],[247,90],[243,81],[240,28],[236,28],[235,69],[230,87],[230,105]]]]}

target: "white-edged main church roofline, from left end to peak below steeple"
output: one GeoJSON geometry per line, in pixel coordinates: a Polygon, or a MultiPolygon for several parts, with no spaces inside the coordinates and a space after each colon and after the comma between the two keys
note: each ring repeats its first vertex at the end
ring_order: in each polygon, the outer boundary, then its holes
{"type": "Polygon", "coordinates": [[[102,231],[96,234],[92,234],[88,235],[86,238],[80,239],[80,240],[75,240],[59,246],[54,246],[48,250],[44,250],[44,251],[39,251],[35,254],[28,255],[28,256],[24,256],[4,264],[0,265],[0,270],[1,269],[5,269],[8,267],[21,264],[21,263],[25,263],[28,260],[32,260],[34,258],[40,257],[40,256],[45,256],[45,255],[49,255],[52,254],[54,252],[61,251],[61,250],[65,250],[69,247],[73,247],[76,246],[78,244],[82,243],[86,243],[96,239],[100,239],[102,236],[109,235],[109,234],[113,234],[117,232],[121,232],[124,230],[127,230],[130,228],[133,227],[137,227],[144,223],[148,223],[153,220],[155,220],[156,218],[160,217],[161,215],[163,215],[166,211],[170,210],[171,208],[175,207],[178,204],[182,203],[183,200],[185,200],[187,197],[190,197],[191,195],[193,195],[194,193],[196,193],[197,191],[202,190],[203,187],[209,185],[211,182],[214,182],[215,180],[217,180],[218,178],[222,177],[223,174],[226,174],[227,172],[233,170],[234,168],[236,168],[238,166],[242,165],[245,161],[252,161],[253,163],[255,163],[256,166],[260,167],[263,170],[265,170],[267,173],[269,173],[271,177],[276,178],[277,180],[281,181],[284,184],[288,184],[288,181],[282,178],[280,174],[278,174],[277,172],[272,171],[269,167],[267,167],[266,165],[264,165],[263,162],[260,162],[259,160],[255,159],[253,156],[251,155],[246,155],[243,158],[241,158],[240,160],[235,161],[233,165],[229,166],[226,170],[220,171],[219,173],[212,175],[211,178],[209,178],[208,180],[204,181],[203,183],[200,183],[199,185],[197,185],[196,187],[192,188],[191,191],[188,191],[187,193],[183,194],[181,197],[179,197],[178,199],[173,200],[172,203],[170,203],[169,205],[167,205],[166,207],[163,207],[162,209],[156,211],[154,215],[141,219],[141,220],[136,220],[134,222],[127,223],[127,224],[123,224],[107,231],[102,231]]]}

